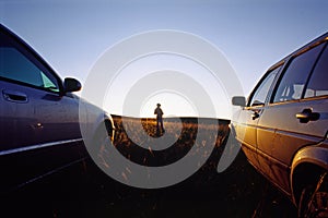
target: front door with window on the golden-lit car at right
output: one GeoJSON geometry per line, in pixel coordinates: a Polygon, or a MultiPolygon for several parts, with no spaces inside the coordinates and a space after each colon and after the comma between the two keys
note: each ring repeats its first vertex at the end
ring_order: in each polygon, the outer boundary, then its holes
{"type": "Polygon", "coordinates": [[[263,165],[259,162],[257,156],[257,128],[259,118],[266,107],[268,93],[281,66],[270,70],[260,80],[256,88],[248,98],[247,107],[239,112],[238,124],[236,125],[237,140],[243,144],[243,150],[248,160],[260,171],[263,165]]]}

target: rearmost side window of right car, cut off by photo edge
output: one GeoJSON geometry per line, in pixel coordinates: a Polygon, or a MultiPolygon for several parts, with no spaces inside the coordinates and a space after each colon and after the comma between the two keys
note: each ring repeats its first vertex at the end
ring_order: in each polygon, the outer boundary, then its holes
{"type": "Polygon", "coordinates": [[[309,82],[307,84],[304,98],[328,95],[328,47],[320,56],[309,82]]]}

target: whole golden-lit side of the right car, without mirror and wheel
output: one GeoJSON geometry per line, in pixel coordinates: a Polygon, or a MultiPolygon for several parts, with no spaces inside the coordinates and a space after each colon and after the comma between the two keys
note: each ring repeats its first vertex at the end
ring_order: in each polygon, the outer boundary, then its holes
{"type": "Polygon", "coordinates": [[[328,33],[271,66],[251,92],[246,106],[241,107],[232,120],[236,140],[248,161],[295,204],[294,169],[311,164],[327,170],[328,83],[324,82],[328,78],[327,40],[328,33]],[[266,87],[265,100],[258,104],[261,101],[256,101],[256,94],[261,93],[266,77],[277,68],[281,69],[271,86],[266,87]],[[303,77],[298,78],[298,73],[303,77]],[[289,89],[283,92],[292,97],[277,100],[281,99],[277,98],[282,94],[280,86],[289,82],[293,82],[293,86],[285,86],[289,89]]]}

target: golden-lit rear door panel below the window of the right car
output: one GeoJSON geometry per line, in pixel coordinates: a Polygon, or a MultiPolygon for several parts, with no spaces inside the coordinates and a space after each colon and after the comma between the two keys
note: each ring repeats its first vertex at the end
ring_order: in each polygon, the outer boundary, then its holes
{"type": "MultiPolygon", "coordinates": [[[[324,102],[314,100],[311,105],[314,111],[321,114],[327,111],[328,99],[324,102]]],[[[308,108],[308,101],[268,107],[263,110],[257,129],[258,158],[263,164],[262,170],[272,182],[289,192],[289,167],[294,154],[303,146],[321,141],[326,131],[323,126],[327,125],[327,119],[301,123],[296,113],[305,108],[308,108]]]]}

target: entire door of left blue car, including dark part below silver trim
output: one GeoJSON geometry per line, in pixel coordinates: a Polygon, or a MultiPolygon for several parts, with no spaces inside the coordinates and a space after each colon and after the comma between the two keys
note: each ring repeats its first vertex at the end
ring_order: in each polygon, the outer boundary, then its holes
{"type": "Polygon", "coordinates": [[[21,39],[0,28],[0,190],[82,159],[79,99],[21,39]]]}

